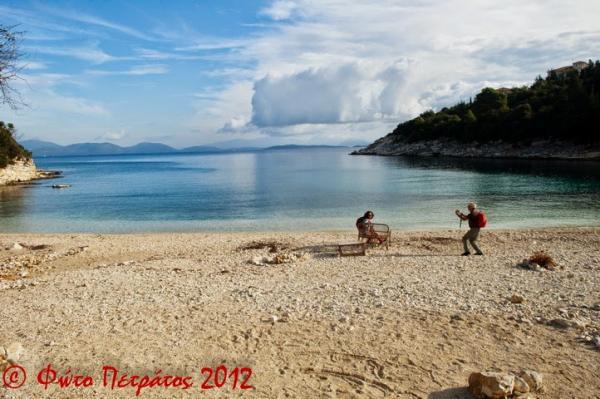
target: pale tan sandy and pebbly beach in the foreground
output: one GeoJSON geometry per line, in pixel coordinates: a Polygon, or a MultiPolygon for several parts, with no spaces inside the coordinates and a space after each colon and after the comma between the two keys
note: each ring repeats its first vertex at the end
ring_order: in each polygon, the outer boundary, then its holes
{"type": "Polygon", "coordinates": [[[0,235],[0,345],[20,343],[27,371],[0,397],[135,397],[102,385],[104,365],[193,378],[143,398],[468,398],[471,372],[523,368],[544,376],[534,397],[600,397],[600,229],[487,230],[484,257],[458,256],[460,234],[343,258],[330,245],[354,232],[0,235]],[[298,257],[251,264],[274,256],[253,241],[298,257]],[[559,267],[517,266],[537,250],[559,267]],[[45,389],[49,363],[94,385],[45,389]],[[202,390],[220,364],[254,388],[202,390]]]}

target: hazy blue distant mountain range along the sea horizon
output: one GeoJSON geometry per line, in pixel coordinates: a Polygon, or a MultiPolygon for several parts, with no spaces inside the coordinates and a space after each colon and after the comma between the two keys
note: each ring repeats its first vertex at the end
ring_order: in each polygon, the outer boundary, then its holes
{"type": "Polygon", "coordinates": [[[121,147],[111,143],[78,143],[70,145],[59,145],[49,141],[42,140],[23,140],[23,147],[33,153],[34,157],[50,156],[85,156],[85,155],[133,155],[133,154],[219,154],[231,152],[249,152],[266,150],[293,150],[304,148],[335,148],[338,146],[330,145],[278,145],[267,148],[259,147],[238,147],[221,148],[215,146],[193,146],[182,149],[176,149],[161,143],[139,143],[130,147],[121,147]]]}

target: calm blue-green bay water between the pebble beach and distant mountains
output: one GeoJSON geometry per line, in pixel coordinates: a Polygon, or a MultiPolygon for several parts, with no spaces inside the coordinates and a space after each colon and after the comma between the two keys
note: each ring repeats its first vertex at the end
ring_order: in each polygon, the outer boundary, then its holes
{"type": "Polygon", "coordinates": [[[600,225],[600,163],[350,156],[347,148],[36,159],[59,180],[0,188],[1,232],[457,228],[600,225]],[[64,190],[55,183],[71,184],[64,190]]]}

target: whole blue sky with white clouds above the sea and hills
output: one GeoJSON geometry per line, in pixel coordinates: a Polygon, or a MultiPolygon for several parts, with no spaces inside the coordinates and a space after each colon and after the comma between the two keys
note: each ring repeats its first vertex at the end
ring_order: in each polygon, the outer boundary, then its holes
{"type": "Polygon", "coordinates": [[[23,139],[358,144],[600,58],[597,0],[0,0],[23,139]]]}

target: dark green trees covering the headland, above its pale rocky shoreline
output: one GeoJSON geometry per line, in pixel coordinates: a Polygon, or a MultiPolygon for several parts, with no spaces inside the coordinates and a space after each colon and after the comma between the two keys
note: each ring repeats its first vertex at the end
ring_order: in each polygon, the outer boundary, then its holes
{"type": "Polygon", "coordinates": [[[600,61],[578,72],[549,73],[529,87],[485,88],[475,100],[427,111],[399,124],[395,142],[431,139],[600,143],[600,61]]]}

